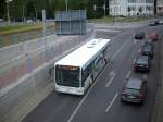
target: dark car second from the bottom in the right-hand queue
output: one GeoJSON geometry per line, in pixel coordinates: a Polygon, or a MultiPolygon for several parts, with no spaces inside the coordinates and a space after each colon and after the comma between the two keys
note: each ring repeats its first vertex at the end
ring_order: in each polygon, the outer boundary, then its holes
{"type": "Polygon", "coordinates": [[[134,61],[135,71],[150,71],[151,59],[148,56],[137,56],[134,61]]]}

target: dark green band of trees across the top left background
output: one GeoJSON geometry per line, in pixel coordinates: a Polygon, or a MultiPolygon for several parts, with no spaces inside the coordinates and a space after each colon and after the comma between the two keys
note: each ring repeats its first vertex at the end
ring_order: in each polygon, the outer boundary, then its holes
{"type": "MultiPolygon", "coordinates": [[[[102,5],[105,0],[67,0],[68,10],[87,10],[88,17],[103,16],[102,5]],[[93,4],[98,8],[93,10],[93,4]]],[[[108,0],[106,0],[108,2],[108,0]]],[[[106,3],[108,5],[108,3],[106,3]]],[[[47,17],[53,17],[54,11],[65,11],[65,0],[13,0],[9,4],[11,20],[41,19],[41,10],[45,9],[47,17]]],[[[108,12],[106,12],[108,13],[108,12]]],[[[0,17],[7,19],[5,0],[0,0],[0,17]]]]}

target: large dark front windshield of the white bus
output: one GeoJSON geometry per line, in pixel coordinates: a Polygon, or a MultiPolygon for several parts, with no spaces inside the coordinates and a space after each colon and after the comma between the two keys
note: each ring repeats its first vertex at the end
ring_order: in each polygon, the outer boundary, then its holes
{"type": "Polygon", "coordinates": [[[57,65],[55,82],[58,85],[79,87],[79,68],[70,65],[57,65]]]}

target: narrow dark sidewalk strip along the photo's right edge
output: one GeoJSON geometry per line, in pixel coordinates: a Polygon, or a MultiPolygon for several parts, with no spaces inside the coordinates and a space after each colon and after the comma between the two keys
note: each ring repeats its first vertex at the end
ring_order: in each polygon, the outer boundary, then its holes
{"type": "Polygon", "coordinates": [[[151,122],[163,122],[163,38],[160,45],[160,77],[151,122]]]}

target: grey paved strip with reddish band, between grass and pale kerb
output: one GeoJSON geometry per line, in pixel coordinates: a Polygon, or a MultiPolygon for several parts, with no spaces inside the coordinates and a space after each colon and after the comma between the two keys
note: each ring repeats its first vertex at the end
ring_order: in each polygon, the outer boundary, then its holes
{"type": "Polygon", "coordinates": [[[70,48],[70,45],[76,45],[77,41],[77,36],[54,35],[2,48],[0,50],[0,94],[23,75],[50,61],[55,54],[70,48]]]}

